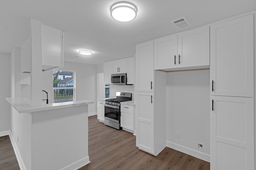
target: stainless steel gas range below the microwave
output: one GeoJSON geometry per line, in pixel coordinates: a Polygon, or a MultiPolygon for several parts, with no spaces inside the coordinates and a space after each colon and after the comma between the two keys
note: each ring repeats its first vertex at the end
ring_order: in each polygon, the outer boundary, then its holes
{"type": "Polygon", "coordinates": [[[116,98],[105,100],[105,121],[104,124],[115,129],[122,129],[120,127],[120,102],[126,102],[132,100],[132,93],[116,92],[116,98]]]}

